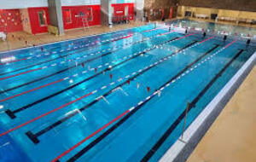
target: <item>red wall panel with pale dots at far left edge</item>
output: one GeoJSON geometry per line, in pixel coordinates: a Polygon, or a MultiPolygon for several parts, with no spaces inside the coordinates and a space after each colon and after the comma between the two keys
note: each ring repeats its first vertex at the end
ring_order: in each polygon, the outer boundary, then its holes
{"type": "Polygon", "coordinates": [[[0,32],[22,31],[19,9],[0,9],[0,32]]]}

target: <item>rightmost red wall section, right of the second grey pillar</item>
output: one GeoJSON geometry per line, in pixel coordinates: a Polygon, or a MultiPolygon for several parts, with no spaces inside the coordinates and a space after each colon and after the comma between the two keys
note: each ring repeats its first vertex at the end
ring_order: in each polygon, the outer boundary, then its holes
{"type": "Polygon", "coordinates": [[[133,20],[134,18],[134,3],[116,3],[111,4],[113,7],[113,16],[125,16],[125,6],[128,6],[128,16],[130,17],[130,20],[133,20]]]}

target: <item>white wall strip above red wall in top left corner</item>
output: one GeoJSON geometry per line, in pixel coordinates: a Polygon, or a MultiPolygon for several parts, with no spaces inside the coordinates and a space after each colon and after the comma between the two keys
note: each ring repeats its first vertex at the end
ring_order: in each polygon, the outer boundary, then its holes
{"type": "Polygon", "coordinates": [[[47,0],[0,0],[0,9],[26,9],[46,6],[48,6],[47,0]]]}

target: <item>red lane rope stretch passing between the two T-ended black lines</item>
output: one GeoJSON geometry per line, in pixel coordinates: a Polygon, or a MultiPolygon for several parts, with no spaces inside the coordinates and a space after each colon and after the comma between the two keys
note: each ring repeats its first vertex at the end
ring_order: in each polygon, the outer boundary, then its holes
{"type": "Polygon", "coordinates": [[[68,105],[73,104],[73,102],[79,101],[79,100],[81,100],[81,99],[83,99],[83,98],[85,98],[85,97],[87,97],[87,96],[89,96],[89,95],[91,95],[91,94],[92,94],[92,92],[90,92],[89,94],[83,95],[83,96],[79,97],[79,98],[76,99],[76,100],[69,101],[69,102],[67,102],[66,104],[62,105],[61,107],[57,107],[57,108],[55,108],[54,110],[51,110],[51,111],[49,111],[48,113],[44,113],[44,114],[38,116],[37,118],[31,119],[31,120],[29,120],[29,121],[27,121],[27,122],[25,122],[25,123],[23,123],[23,124],[20,124],[20,125],[16,126],[16,127],[13,128],[13,129],[7,130],[7,131],[1,133],[1,134],[0,134],[0,137],[1,137],[1,136],[4,136],[4,135],[6,135],[6,134],[9,134],[10,132],[12,132],[12,131],[14,131],[14,130],[19,129],[19,128],[22,127],[22,126],[25,126],[26,124],[31,124],[32,122],[34,122],[34,121],[36,121],[36,120],[38,120],[38,119],[41,119],[41,118],[43,118],[43,117],[49,115],[50,113],[54,113],[54,112],[60,110],[60,109],[63,108],[63,107],[67,107],[68,105]]]}

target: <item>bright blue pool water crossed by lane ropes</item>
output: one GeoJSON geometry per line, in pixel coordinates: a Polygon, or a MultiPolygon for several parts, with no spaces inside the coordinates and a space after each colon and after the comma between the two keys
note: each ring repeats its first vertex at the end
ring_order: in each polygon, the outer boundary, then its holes
{"type": "Polygon", "coordinates": [[[147,25],[2,53],[0,161],[157,161],[255,50],[147,25]]]}

